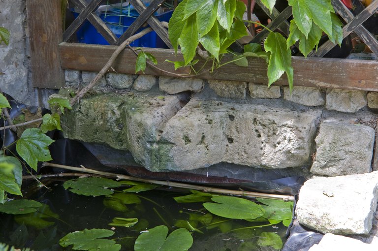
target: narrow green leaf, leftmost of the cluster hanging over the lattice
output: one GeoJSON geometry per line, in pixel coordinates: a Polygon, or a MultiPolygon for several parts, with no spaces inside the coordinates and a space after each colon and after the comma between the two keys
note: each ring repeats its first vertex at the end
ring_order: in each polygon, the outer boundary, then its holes
{"type": "Polygon", "coordinates": [[[177,5],[168,23],[168,36],[169,40],[171,40],[173,49],[175,49],[175,53],[177,53],[177,49],[179,47],[179,38],[186,23],[186,19],[184,19],[184,14],[187,2],[188,0],[183,0],[179,3],[179,5],[177,5]]]}

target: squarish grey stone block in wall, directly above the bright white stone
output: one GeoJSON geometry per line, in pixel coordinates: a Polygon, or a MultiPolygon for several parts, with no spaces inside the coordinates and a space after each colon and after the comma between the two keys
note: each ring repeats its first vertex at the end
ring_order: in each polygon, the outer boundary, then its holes
{"type": "Polygon", "coordinates": [[[315,138],[317,151],[311,172],[324,176],[368,173],[374,138],[375,130],[370,126],[324,121],[315,138]]]}

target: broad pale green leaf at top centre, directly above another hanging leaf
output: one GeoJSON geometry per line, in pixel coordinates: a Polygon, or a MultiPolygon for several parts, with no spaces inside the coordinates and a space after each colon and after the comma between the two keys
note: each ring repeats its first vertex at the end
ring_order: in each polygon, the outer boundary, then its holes
{"type": "MultiPolygon", "coordinates": [[[[190,2],[190,1],[189,1],[190,2]]],[[[205,0],[196,12],[197,27],[200,37],[206,35],[213,27],[217,19],[216,0],[205,0]]]]}

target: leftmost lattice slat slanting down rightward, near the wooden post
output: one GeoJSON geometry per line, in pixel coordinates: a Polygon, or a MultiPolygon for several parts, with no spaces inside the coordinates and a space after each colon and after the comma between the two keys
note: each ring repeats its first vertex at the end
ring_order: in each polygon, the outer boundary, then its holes
{"type": "MultiPolygon", "coordinates": [[[[84,11],[86,7],[85,0],[71,0],[75,6],[80,10],[84,11]]],[[[88,21],[95,27],[95,29],[100,32],[100,34],[105,38],[109,44],[114,44],[117,40],[116,35],[109,29],[109,27],[102,21],[102,19],[95,13],[90,13],[88,16],[88,21]]]]}

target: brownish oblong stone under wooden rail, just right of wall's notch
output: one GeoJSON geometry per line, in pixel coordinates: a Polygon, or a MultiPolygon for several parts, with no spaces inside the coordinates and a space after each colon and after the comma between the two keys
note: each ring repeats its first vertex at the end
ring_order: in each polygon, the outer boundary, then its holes
{"type": "Polygon", "coordinates": [[[208,80],[210,88],[220,97],[246,98],[247,82],[208,80]]]}

